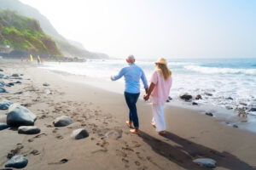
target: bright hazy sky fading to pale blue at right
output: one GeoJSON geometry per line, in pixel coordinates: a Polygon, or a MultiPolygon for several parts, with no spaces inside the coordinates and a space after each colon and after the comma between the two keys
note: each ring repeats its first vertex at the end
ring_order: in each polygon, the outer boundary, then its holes
{"type": "Polygon", "coordinates": [[[255,0],[21,0],[112,57],[256,57],[255,0]]]}

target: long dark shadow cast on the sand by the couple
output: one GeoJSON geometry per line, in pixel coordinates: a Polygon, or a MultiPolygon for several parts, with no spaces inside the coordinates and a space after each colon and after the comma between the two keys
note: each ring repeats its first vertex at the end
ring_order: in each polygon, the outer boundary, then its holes
{"type": "Polygon", "coordinates": [[[217,161],[217,167],[224,167],[232,170],[256,169],[255,167],[251,167],[246,162],[241,161],[239,158],[231,155],[228,152],[212,150],[211,148],[207,148],[201,144],[195,144],[188,139],[183,139],[170,132],[166,132],[165,135],[161,136],[176,144],[168,144],[160,139],[156,139],[148,135],[148,133],[140,131],[140,137],[144,142],[149,144],[157,154],[160,156],[165,156],[170,161],[177,163],[177,165],[185,169],[209,169],[207,167],[200,167],[193,162],[194,159],[200,157],[207,157],[217,161]]]}

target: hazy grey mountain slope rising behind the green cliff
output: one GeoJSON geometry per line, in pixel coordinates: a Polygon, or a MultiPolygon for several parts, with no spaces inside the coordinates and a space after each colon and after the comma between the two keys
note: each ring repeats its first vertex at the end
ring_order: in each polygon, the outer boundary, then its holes
{"type": "Polygon", "coordinates": [[[70,42],[65,37],[62,37],[58,31],[55,30],[54,26],[51,25],[49,20],[40,14],[38,9],[32,8],[29,5],[20,3],[19,0],[0,0],[0,10],[9,9],[14,10],[17,14],[34,18],[39,21],[42,30],[49,35],[52,40],[55,41],[57,48],[61,50],[61,53],[67,57],[84,57],[84,58],[108,58],[107,54],[92,53],[88,50],[77,45],[77,42],[70,42]]]}

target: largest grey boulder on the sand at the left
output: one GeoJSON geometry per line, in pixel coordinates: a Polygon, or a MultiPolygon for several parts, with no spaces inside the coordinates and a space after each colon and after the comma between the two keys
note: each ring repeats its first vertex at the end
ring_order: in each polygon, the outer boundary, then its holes
{"type": "Polygon", "coordinates": [[[18,104],[9,106],[9,113],[7,115],[7,124],[9,126],[33,126],[36,119],[37,116],[24,106],[18,104]]]}

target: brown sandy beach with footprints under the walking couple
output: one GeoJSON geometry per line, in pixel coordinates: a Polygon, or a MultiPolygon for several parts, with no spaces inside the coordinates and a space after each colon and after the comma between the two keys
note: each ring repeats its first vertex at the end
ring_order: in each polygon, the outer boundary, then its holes
{"type": "MultiPolygon", "coordinates": [[[[228,127],[212,116],[166,106],[167,133],[161,136],[150,124],[151,105],[139,100],[141,131],[136,135],[125,125],[128,108],[122,94],[73,82],[64,73],[20,60],[1,59],[0,69],[5,76],[23,74],[21,83],[5,88],[8,93],[0,94],[0,99],[26,106],[37,116],[35,126],[41,129],[33,135],[17,133],[15,128],[1,130],[0,169],[12,155],[26,156],[27,170],[209,169],[193,162],[201,157],[217,161],[214,169],[256,169],[256,134],[228,127]],[[74,123],[54,127],[58,116],[69,116],[74,123]],[[89,137],[71,139],[73,130],[81,127],[89,137]]],[[[0,122],[6,122],[7,113],[0,111],[0,122]]]]}

